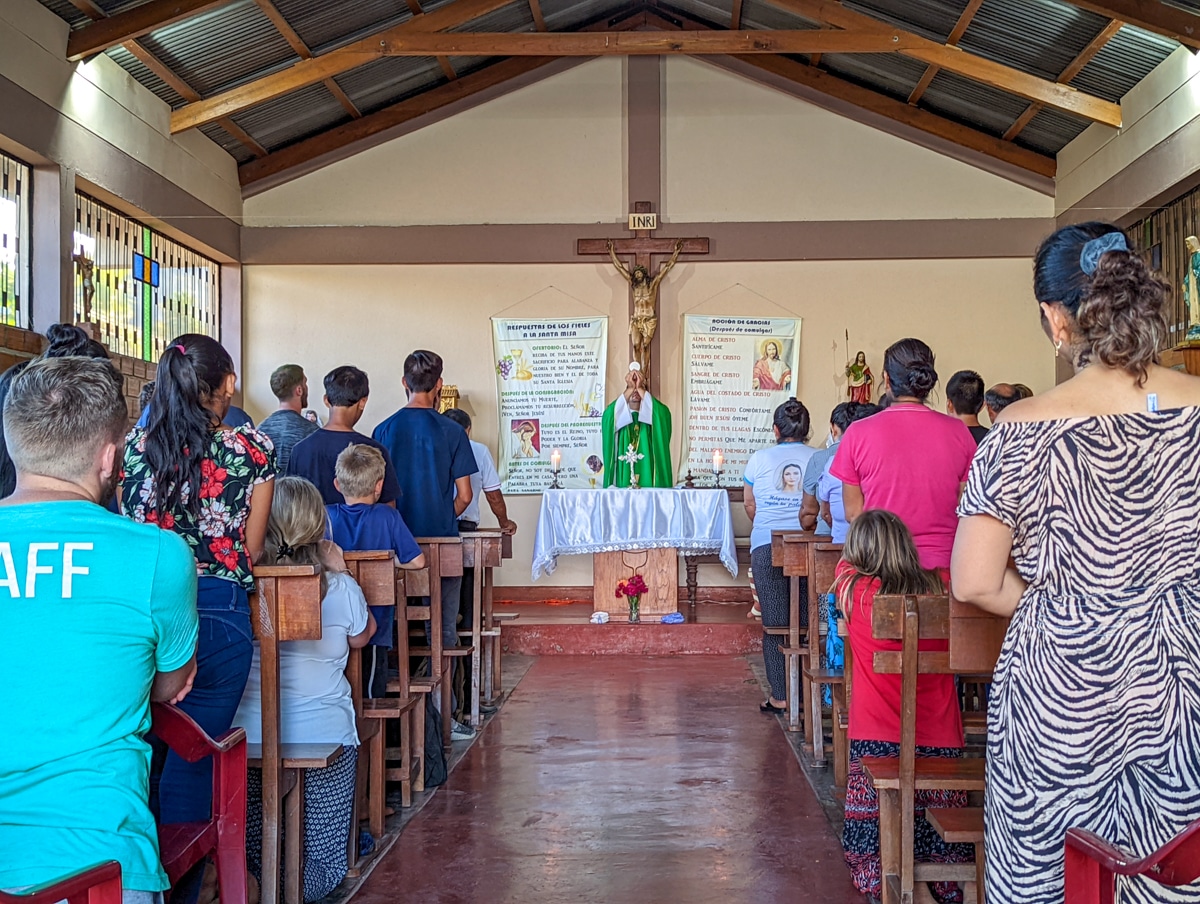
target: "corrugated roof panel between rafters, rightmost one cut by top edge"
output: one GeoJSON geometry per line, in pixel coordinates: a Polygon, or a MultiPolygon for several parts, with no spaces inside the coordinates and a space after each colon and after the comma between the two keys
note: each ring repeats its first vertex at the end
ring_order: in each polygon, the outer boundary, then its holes
{"type": "Polygon", "coordinates": [[[1109,20],[1058,0],[1004,0],[979,7],[959,46],[1055,80],[1109,20]]]}

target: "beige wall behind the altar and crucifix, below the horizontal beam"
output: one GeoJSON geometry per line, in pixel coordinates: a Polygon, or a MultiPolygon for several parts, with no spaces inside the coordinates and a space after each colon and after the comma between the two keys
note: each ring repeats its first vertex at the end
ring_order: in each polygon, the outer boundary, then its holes
{"type": "MultiPolygon", "coordinates": [[[[928,341],[944,382],[972,367],[989,383],[1020,381],[1034,391],[1054,383],[1054,357],[1038,328],[1026,261],[797,262],[684,264],[662,293],[664,401],[680,412],[680,317],[684,313],[797,315],[804,318],[799,397],[814,413],[812,442],[824,437],[830,408],[842,397],[844,333],[863,348],[878,373],[883,348],[906,335],[928,341]]],[[[403,403],[404,355],[432,348],[446,359],[476,421],[475,438],[496,448],[496,379],[490,317],[589,316],[610,319],[610,388],[625,361],[628,300],[611,268],[556,267],[247,267],[245,269],[245,372],[252,414],[272,407],[268,377],[283,363],[301,364],[314,387],[340,364],[353,363],[372,379],[366,432],[403,403]]],[[[940,403],[944,403],[938,397],[940,403]]],[[[677,418],[682,423],[682,417],[677,418]]],[[[678,456],[679,437],[674,451],[678,456]]],[[[515,558],[498,575],[529,583],[540,497],[510,499],[521,525],[515,558]]],[[[486,507],[485,507],[486,508],[486,507]]],[[[740,508],[740,507],[738,507],[740,508]]],[[[736,513],[739,533],[748,533],[736,513]]],[[[485,522],[491,515],[485,513],[485,522]]],[[[590,561],[564,557],[541,583],[589,585],[590,561]]],[[[703,580],[728,582],[716,568],[703,580]]]]}

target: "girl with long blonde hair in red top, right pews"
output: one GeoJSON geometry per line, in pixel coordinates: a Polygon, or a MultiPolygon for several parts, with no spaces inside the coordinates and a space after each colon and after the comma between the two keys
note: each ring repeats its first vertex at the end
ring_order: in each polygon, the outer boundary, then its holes
{"type": "MultiPolygon", "coordinates": [[[[871,615],[876,594],[944,593],[946,570],[920,567],[912,534],[896,515],[869,509],[850,526],[833,592],[847,622],[852,663],[850,695],[850,770],[841,844],[854,885],[872,900],[881,897],[880,803],[863,771],[864,756],[900,755],[900,676],[876,675],[875,653],[899,651],[900,641],[876,640],[871,615]]],[[[920,649],[947,649],[946,641],[922,641],[920,649]]],[[[917,678],[917,756],[961,756],[962,713],[953,675],[917,678]]],[[[962,791],[917,791],[916,857],[936,863],[967,863],[973,850],[946,844],[925,821],[926,807],[966,807],[962,791]]],[[[960,902],[952,882],[930,884],[946,904],[960,902]]]]}

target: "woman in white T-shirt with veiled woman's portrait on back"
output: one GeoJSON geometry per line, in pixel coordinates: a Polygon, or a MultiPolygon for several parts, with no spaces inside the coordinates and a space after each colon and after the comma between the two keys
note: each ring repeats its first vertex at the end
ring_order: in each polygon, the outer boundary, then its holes
{"type": "MultiPolygon", "coordinates": [[[[805,445],[810,426],[809,409],[803,402],[796,399],[784,402],[774,415],[776,444],[751,455],[743,474],[746,515],[752,522],[750,567],[758,588],[764,629],[787,624],[787,577],[782,568],[770,564],[770,532],[794,531],[799,525],[804,496],[802,478],[809,459],[817,451],[805,445]]],[[[803,583],[804,579],[800,581],[803,583]]],[[[804,592],[802,587],[800,593],[804,592]]],[[[806,612],[802,611],[802,615],[806,612]]],[[[763,631],[762,659],[770,684],[770,698],[760,706],[764,713],[781,713],[786,710],[782,642],[784,637],[763,631]]]]}

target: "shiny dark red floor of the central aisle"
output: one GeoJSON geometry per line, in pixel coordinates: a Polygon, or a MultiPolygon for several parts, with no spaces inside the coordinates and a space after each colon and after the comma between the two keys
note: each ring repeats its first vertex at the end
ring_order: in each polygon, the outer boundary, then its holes
{"type": "Polygon", "coordinates": [[[862,904],[739,657],[544,657],[355,896],[862,904]]]}

